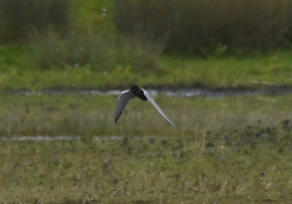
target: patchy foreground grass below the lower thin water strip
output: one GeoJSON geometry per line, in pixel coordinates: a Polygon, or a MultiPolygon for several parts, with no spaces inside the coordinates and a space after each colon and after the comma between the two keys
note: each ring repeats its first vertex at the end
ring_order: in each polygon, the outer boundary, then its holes
{"type": "Polygon", "coordinates": [[[0,142],[0,201],[289,203],[291,132],[280,132],[275,138],[288,136],[254,143],[208,135],[0,142]]]}

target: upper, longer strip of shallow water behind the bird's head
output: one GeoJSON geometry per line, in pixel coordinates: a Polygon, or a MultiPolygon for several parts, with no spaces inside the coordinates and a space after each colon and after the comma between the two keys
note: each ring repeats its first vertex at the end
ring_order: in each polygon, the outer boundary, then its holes
{"type": "MultiPolygon", "coordinates": [[[[264,85],[257,88],[229,87],[229,88],[146,88],[152,95],[167,95],[174,97],[220,97],[226,95],[253,95],[253,94],[291,94],[292,87],[286,85],[264,85]]],[[[124,89],[88,89],[88,88],[50,88],[43,91],[15,90],[19,95],[66,95],[66,94],[92,94],[92,95],[119,95],[124,89]]]]}

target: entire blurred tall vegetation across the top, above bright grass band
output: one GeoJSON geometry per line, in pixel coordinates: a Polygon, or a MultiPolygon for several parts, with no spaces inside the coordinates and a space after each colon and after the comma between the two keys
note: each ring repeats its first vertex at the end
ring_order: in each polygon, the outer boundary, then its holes
{"type": "Polygon", "coordinates": [[[291,11],[287,0],[0,0],[0,42],[13,56],[29,53],[34,69],[159,74],[161,55],[291,49],[291,11]]]}

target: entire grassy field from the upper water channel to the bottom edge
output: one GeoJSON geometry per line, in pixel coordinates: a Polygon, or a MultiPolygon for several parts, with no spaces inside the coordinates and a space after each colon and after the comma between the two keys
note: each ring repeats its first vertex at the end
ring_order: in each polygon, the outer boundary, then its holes
{"type": "Polygon", "coordinates": [[[0,141],[0,202],[291,200],[292,95],[155,96],[174,127],[138,99],[114,124],[116,100],[2,93],[0,135],[81,140],[0,141]]]}

